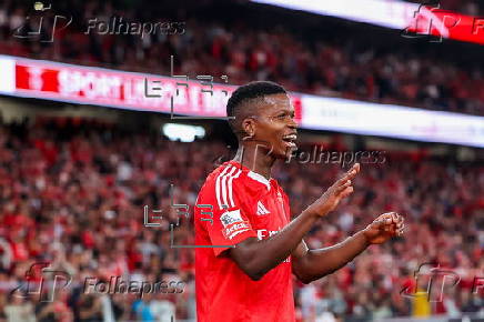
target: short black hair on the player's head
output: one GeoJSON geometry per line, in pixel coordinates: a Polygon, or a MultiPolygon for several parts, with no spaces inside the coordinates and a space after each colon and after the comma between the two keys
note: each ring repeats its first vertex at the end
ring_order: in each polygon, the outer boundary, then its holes
{"type": "Polygon", "coordinates": [[[265,95],[288,93],[285,89],[271,81],[253,81],[239,87],[226,103],[226,115],[232,131],[238,134],[241,131],[241,123],[244,117],[256,111],[249,111],[249,102],[265,95]]]}

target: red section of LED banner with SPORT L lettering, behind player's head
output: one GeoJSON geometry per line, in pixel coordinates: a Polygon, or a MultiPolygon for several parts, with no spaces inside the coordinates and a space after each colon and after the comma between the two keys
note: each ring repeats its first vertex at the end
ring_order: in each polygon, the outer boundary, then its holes
{"type": "MultiPolygon", "coordinates": [[[[210,78],[204,76],[204,79],[210,78]]],[[[233,85],[48,61],[16,59],[16,92],[84,104],[223,118],[233,85]]],[[[301,119],[301,97],[292,94],[301,119]]]]}

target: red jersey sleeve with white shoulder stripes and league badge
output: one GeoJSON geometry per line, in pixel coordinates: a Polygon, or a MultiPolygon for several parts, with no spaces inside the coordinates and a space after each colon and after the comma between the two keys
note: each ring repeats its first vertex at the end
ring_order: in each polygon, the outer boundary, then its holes
{"type": "Polygon", "coordinates": [[[248,209],[248,192],[241,181],[236,180],[236,171],[233,174],[220,175],[210,188],[214,197],[213,224],[205,222],[205,229],[210,237],[215,255],[221,254],[232,245],[241,241],[256,237],[252,229],[251,213],[248,209]]]}

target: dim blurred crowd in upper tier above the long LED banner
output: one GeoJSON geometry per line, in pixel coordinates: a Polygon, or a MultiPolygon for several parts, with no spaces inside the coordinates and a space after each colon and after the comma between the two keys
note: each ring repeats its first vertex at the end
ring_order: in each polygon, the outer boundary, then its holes
{"type": "MultiPolygon", "coordinates": [[[[0,52],[160,74],[170,74],[170,56],[173,54],[175,73],[191,79],[211,74],[214,81],[222,82],[220,77],[228,76],[232,84],[272,80],[292,91],[484,115],[482,61],[457,63],[453,60],[455,54],[446,57],[447,53],[435,50],[425,53],[420,47],[407,47],[412,40],[404,38],[391,50],[382,50],[382,46],[387,46],[389,36],[365,37],[364,41],[361,36],[349,37],[360,24],[351,29],[341,22],[343,31],[336,27],[321,36],[319,29],[304,27],[295,33],[288,29],[284,20],[259,28],[252,22],[260,24],[261,17],[238,17],[231,12],[234,18],[222,22],[222,18],[220,21],[202,14],[194,18],[194,14],[180,12],[183,10],[164,9],[162,4],[149,4],[147,10],[144,2],[139,6],[133,2],[132,7],[115,3],[56,3],[59,7],[42,13],[46,19],[39,38],[26,40],[12,34],[20,26],[24,26],[18,30],[20,36],[38,30],[39,13],[27,6],[4,1],[0,4],[0,52]],[[72,17],[72,23],[63,29],[65,21],[59,19],[54,41],[41,42],[51,37],[54,14],[72,17]],[[177,32],[143,37],[87,32],[89,19],[112,24],[113,17],[139,23],[178,23],[179,28],[177,32]]],[[[236,11],[236,7],[212,6],[212,11],[220,10],[221,17],[228,14],[224,10],[236,11]]],[[[445,1],[442,8],[480,12],[477,2],[470,1],[445,1]]],[[[290,19],[286,20],[298,21],[290,19]]],[[[317,24],[324,24],[324,19],[317,24]]]]}

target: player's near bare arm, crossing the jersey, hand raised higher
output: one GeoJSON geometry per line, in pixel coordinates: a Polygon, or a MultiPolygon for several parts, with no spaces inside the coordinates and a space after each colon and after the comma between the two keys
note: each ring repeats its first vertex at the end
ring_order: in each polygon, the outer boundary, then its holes
{"type": "Polygon", "coordinates": [[[341,199],[353,192],[351,180],[359,171],[356,163],[279,233],[261,241],[248,238],[229,250],[230,256],[252,280],[260,280],[294,252],[317,219],[333,211],[341,199]]]}

